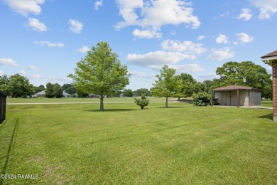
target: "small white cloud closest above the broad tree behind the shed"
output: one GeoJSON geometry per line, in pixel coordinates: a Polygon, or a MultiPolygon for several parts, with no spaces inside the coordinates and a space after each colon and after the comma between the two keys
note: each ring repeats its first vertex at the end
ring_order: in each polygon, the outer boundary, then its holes
{"type": "Polygon", "coordinates": [[[232,57],[234,57],[234,52],[231,51],[230,48],[224,47],[219,50],[212,49],[212,53],[207,57],[207,59],[220,61],[232,57]]]}

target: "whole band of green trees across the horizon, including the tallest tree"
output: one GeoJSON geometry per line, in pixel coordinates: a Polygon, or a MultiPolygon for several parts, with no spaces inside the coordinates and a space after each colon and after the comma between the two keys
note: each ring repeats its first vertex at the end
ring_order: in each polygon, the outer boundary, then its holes
{"type": "MultiPolygon", "coordinates": [[[[48,83],[45,88],[46,97],[60,97],[63,90],[70,95],[87,97],[89,94],[99,95],[100,110],[104,110],[103,98],[105,96],[140,96],[153,95],[156,97],[191,97],[197,93],[210,93],[213,88],[227,85],[243,85],[251,88],[259,88],[262,97],[272,99],[271,75],[261,65],[251,61],[227,62],[218,67],[216,74],[218,79],[197,82],[192,75],[187,73],[177,74],[173,68],[164,65],[160,74],[156,75],[156,81],[151,90],[124,89],[129,85],[130,74],[126,65],[121,65],[118,55],[112,52],[112,48],[106,42],[97,43],[87,52],[87,56],[77,62],[75,73],[69,74],[73,84],[63,86],[58,83],[48,83]]],[[[0,77],[0,90],[5,90],[11,97],[28,97],[43,90],[43,85],[34,87],[28,78],[21,75],[0,77]]],[[[166,101],[167,102],[167,101],[166,101]]],[[[165,103],[167,107],[167,103],[165,103]]]]}

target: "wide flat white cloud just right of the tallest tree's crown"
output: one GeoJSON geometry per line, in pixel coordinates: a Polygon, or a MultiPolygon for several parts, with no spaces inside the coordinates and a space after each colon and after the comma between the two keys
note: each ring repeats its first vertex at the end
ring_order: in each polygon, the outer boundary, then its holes
{"type": "Polygon", "coordinates": [[[191,58],[191,56],[184,53],[155,51],[143,55],[129,54],[126,56],[126,61],[134,65],[160,70],[163,65],[175,64],[188,58],[191,58]]]}

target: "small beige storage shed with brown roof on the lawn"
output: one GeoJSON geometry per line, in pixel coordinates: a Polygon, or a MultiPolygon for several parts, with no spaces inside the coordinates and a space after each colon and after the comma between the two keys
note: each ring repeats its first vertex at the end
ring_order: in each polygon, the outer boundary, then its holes
{"type": "Polygon", "coordinates": [[[226,106],[261,106],[261,91],[239,85],[213,89],[212,93],[218,98],[220,105],[226,106]]]}

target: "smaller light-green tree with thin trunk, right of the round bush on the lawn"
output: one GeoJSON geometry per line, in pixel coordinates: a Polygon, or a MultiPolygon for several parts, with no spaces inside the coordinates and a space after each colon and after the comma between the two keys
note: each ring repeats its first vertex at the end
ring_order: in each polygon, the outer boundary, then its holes
{"type": "Polygon", "coordinates": [[[152,93],[156,97],[165,97],[165,108],[168,107],[168,97],[175,97],[182,88],[182,80],[176,75],[176,70],[164,65],[160,70],[161,74],[156,75],[158,80],[153,83],[152,93]]]}

